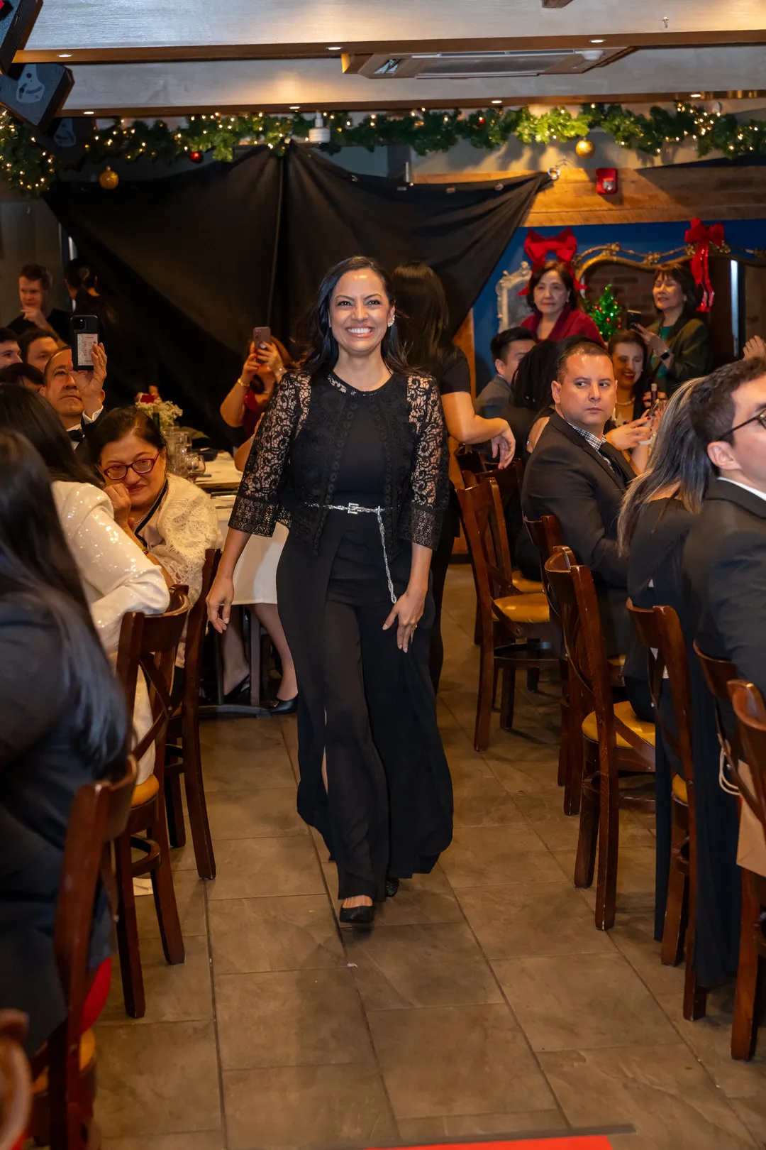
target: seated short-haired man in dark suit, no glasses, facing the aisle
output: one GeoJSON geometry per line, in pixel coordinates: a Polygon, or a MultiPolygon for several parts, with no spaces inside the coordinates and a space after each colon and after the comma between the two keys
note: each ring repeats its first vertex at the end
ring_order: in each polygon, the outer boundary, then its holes
{"type": "Polygon", "coordinates": [[[556,411],[525,468],[521,506],[527,519],[557,516],[564,543],[593,572],[606,651],[625,653],[633,630],[625,605],[627,560],[617,551],[617,516],[635,473],[604,438],[617,400],[605,350],[587,339],[568,347],[551,394],[556,411]]]}

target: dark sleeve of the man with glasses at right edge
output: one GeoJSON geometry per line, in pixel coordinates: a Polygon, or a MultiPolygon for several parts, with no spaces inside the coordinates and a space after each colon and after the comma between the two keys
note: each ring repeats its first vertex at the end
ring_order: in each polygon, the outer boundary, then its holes
{"type": "Polygon", "coordinates": [[[707,614],[740,675],[766,697],[766,537],[741,530],[727,538],[726,555],[713,564],[707,614]]]}

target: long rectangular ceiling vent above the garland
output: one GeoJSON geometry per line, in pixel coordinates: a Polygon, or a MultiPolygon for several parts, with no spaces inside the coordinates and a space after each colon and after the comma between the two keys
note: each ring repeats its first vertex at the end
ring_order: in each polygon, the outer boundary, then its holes
{"type": "Polygon", "coordinates": [[[627,48],[550,48],[540,52],[412,52],[346,56],[345,71],[369,79],[503,79],[586,72],[627,48]]]}

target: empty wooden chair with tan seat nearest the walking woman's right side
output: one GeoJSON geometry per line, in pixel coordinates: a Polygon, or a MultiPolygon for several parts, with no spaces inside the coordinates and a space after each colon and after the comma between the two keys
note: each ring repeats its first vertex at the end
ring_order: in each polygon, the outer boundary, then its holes
{"type": "Polygon", "coordinates": [[[501,727],[513,722],[516,670],[557,662],[542,646],[551,641],[548,603],[542,592],[524,595],[513,585],[508,532],[494,478],[458,490],[480,619],[479,693],[473,745],[489,744],[495,673],[502,674],[501,727]]]}

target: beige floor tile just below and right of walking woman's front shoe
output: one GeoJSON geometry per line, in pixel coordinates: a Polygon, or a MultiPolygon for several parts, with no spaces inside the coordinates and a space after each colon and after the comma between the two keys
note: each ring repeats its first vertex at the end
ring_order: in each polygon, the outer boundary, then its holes
{"type": "Polygon", "coordinates": [[[387,927],[350,934],[349,963],[365,1010],[502,1003],[470,929],[463,922],[387,927]]]}

